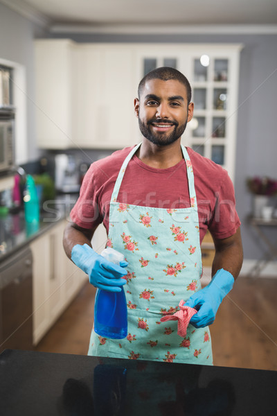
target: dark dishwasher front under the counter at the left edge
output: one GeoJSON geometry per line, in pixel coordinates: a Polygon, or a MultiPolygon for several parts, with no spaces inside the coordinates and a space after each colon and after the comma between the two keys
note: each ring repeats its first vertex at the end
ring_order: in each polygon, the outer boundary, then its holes
{"type": "Polygon", "coordinates": [[[32,265],[28,247],[0,263],[0,352],[33,349],[32,265]]]}

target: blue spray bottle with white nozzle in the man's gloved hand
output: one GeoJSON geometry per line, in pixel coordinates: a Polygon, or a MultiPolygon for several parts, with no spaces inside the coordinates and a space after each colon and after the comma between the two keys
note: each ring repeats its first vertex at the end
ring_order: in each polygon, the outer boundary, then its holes
{"type": "MultiPolygon", "coordinates": [[[[124,261],[123,254],[113,248],[106,248],[101,256],[116,264],[124,261]]],[[[127,336],[127,302],[123,287],[120,292],[97,289],[94,331],[104,338],[122,339],[127,336]]]]}

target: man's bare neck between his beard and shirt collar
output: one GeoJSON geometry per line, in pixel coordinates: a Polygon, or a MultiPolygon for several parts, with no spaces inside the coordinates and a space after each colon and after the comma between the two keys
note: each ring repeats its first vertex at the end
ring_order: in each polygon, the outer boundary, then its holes
{"type": "Polygon", "coordinates": [[[141,162],[157,169],[166,169],[175,166],[183,159],[181,139],[167,146],[157,146],[143,137],[143,141],[136,156],[141,162]]]}

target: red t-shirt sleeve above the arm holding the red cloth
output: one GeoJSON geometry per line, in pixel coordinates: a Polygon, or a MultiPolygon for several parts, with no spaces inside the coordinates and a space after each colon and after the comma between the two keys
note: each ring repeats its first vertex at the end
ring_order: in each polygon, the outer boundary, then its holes
{"type": "Polygon", "coordinates": [[[216,239],[232,236],[240,227],[240,218],[235,209],[235,191],[228,173],[223,171],[220,190],[217,191],[215,209],[208,229],[216,239]]]}

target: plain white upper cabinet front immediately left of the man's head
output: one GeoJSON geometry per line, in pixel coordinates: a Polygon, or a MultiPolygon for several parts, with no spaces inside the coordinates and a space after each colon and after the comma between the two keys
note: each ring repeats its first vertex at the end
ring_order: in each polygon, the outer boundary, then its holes
{"type": "Polygon", "coordinates": [[[88,44],[78,50],[78,146],[119,149],[135,143],[131,47],[88,44]]]}

